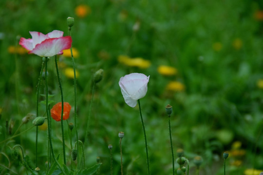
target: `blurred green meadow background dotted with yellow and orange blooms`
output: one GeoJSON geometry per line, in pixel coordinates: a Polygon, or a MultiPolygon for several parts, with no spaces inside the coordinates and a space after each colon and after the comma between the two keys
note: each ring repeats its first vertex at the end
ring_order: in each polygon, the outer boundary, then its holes
{"type": "MultiPolygon", "coordinates": [[[[31,38],[29,31],[47,34],[61,30],[68,35],[66,19],[73,17],[78,72],[76,124],[82,141],[92,76],[96,70],[104,70],[94,91],[85,148],[87,167],[99,156],[101,174],[110,175],[108,144],[112,144],[114,175],[120,174],[118,132],[123,131],[124,174],[147,173],[139,109],[125,104],[118,85],[125,74],[140,72],[150,75],[141,105],[152,175],[171,174],[168,104],[173,106],[174,151],[184,149],[191,174],[195,172],[192,160],[199,155],[204,159],[202,175],[222,175],[224,151],[229,151],[228,174],[244,174],[253,167],[263,170],[262,1],[1,0],[0,17],[0,141],[11,137],[25,116],[36,117],[42,58],[27,54],[18,46],[19,38],[31,38]]],[[[64,99],[74,106],[72,61],[66,53],[59,56],[59,68],[64,99]]],[[[54,105],[60,101],[54,58],[47,71],[54,105]]],[[[44,93],[43,84],[40,92],[44,93]]],[[[40,103],[39,110],[45,116],[44,104],[40,103]]],[[[74,111],[68,121],[74,122],[74,111]]],[[[56,155],[62,155],[60,123],[52,122],[56,155]]],[[[23,124],[18,132],[31,126],[31,121],[23,124]]],[[[70,145],[67,128],[66,139],[70,145]]],[[[15,144],[21,144],[34,167],[35,129],[31,129],[2,144],[1,175],[11,173],[2,165],[24,174],[11,156],[10,147],[15,144]]],[[[43,172],[46,150],[43,126],[39,131],[39,167],[43,172]]],[[[67,155],[70,163],[69,148],[67,155]]]]}

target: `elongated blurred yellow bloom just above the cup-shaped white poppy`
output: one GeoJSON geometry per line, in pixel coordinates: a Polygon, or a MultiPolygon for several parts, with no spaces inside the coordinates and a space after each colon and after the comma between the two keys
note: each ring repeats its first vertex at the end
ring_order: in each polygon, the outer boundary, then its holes
{"type": "Polygon", "coordinates": [[[119,55],[118,61],[126,66],[138,67],[141,69],[146,69],[150,67],[150,61],[145,60],[141,57],[130,58],[129,56],[126,55],[119,55]]]}

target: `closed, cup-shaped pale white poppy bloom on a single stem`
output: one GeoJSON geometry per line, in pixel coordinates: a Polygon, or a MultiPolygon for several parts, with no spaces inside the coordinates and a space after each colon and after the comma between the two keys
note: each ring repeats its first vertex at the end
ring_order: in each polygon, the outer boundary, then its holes
{"type": "Polygon", "coordinates": [[[131,73],[120,78],[119,86],[127,105],[135,107],[137,100],[146,95],[149,79],[150,75],[147,77],[143,73],[131,73]]]}

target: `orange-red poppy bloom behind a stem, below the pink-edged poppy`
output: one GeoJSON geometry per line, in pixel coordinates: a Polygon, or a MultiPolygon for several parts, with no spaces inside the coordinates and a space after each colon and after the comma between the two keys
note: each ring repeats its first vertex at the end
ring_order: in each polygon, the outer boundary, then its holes
{"type": "MultiPolygon", "coordinates": [[[[51,117],[57,122],[61,121],[61,110],[62,110],[61,102],[58,102],[50,110],[51,117]]],[[[70,110],[71,110],[71,105],[68,102],[64,102],[63,120],[67,120],[69,118],[70,110]]]]}

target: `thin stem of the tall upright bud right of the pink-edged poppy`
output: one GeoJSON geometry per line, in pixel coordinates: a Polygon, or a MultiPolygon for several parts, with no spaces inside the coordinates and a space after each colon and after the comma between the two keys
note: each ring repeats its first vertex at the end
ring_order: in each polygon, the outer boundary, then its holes
{"type": "MultiPolygon", "coordinates": [[[[71,36],[71,27],[69,28],[69,34],[71,36]]],[[[76,140],[78,140],[78,134],[77,134],[77,123],[76,123],[76,70],[75,70],[75,60],[73,57],[73,52],[72,52],[72,46],[70,48],[71,52],[71,59],[72,59],[72,64],[73,64],[73,70],[74,70],[74,123],[75,123],[75,131],[76,131],[76,140]]],[[[85,143],[85,142],[84,142],[85,143]]],[[[77,162],[78,162],[78,144],[77,144],[77,162]]],[[[85,163],[84,163],[85,166],[85,163]]]]}

